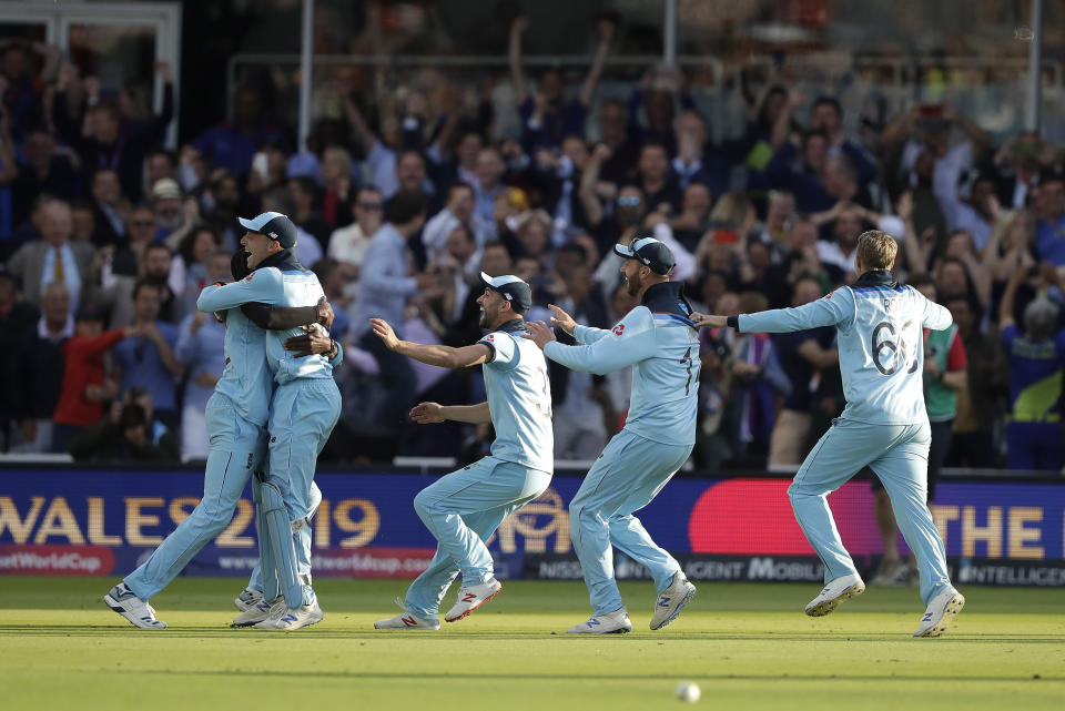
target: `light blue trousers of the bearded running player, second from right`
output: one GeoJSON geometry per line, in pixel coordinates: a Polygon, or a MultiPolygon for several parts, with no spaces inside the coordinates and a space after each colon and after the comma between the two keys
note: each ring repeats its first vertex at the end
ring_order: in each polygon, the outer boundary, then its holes
{"type": "Polygon", "coordinates": [[[569,504],[569,535],[596,614],[623,606],[611,545],[643,565],[662,592],[680,563],[655,545],[632,516],[658,496],[688,460],[693,445],[663,445],[622,429],[615,435],[569,504]]]}

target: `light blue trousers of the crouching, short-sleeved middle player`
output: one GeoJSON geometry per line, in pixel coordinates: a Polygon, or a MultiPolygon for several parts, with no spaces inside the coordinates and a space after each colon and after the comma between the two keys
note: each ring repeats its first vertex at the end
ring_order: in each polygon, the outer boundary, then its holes
{"type": "Polygon", "coordinates": [[[439,546],[428,569],[407,589],[407,611],[423,619],[435,618],[459,572],[464,586],[490,579],[491,553],[485,541],[507,516],[537,498],[550,483],[547,471],[485,457],[422,489],[414,497],[414,510],[439,546]]]}

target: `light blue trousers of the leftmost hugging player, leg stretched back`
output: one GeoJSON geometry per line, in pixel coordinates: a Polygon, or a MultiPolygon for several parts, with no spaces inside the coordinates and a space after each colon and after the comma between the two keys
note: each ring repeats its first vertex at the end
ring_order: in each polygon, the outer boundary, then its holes
{"type": "Polygon", "coordinates": [[[212,395],[204,415],[211,451],[203,498],[151,558],[125,577],[125,585],[142,600],[169,586],[201,548],[225,530],[244,486],[266,454],[266,430],[244,419],[226,396],[212,395]]]}

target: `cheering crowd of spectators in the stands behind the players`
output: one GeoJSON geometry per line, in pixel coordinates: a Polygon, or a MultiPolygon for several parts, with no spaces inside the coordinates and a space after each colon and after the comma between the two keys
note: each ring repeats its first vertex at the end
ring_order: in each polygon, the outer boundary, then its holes
{"type": "MultiPolygon", "coordinates": [[[[530,318],[554,303],[609,328],[637,305],[611,246],[637,234],[669,245],[700,312],[797,306],[852,282],[858,236],[875,227],[900,242],[897,278],[955,319],[874,344],[885,367],[924,348],[933,465],[1062,469],[1065,151],[1037,133],[995,144],[951,103],[850,134],[835,98],[779,83],[750,98],[741,139],[716,141],[674,69],[599,95],[611,22],[574,87],[557,70],[528,75],[526,26],[510,29],[509,116],[447,87],[410,88],[387,116],[373,95],[342,95],[343,119],[316,122],[302,151],[250,88],[231,121],[168,150],[168,65],[153,114],[4,47],[0,449],[203,458],[224,331],[196,296],[230,278],[237,215],[274,210],[298,226],[296,254],[345,346],[324,460],[473,458],[491,439],[488,426],[412,425],[412,404],[480,402],[483,380],[396,356],[368,316],[400,337],[469,344],[483,271],[530,283],[530,318]],[[516,128],[500,140],[505,119],[516,128]]],[[[800,463],[842,410],[834,338],[703,332],[696,466],[800,463]]],[[[594,458],[625,420],[629,374],[550,375],[557,457],[594,458]]]]}

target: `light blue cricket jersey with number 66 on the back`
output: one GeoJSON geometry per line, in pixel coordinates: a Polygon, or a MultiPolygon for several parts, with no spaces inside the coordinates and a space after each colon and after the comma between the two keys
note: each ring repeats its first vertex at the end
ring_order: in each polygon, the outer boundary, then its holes
{"type": "Polygon", "coordinates": [[[865,272],[852,286],[795,308],[737,318],[744,333],[785,333],[819,326],[839,332],[842,417],[871,425],[929,421],[924,408],[922,328],[943,331],[951,312],[886,270],[865,272]]]}

